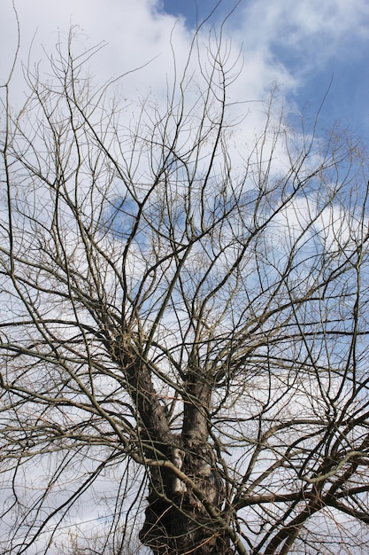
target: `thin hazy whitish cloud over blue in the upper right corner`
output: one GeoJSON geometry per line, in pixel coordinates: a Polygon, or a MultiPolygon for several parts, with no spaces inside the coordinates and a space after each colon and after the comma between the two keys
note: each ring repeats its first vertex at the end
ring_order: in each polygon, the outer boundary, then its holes
{"type": "MultiPolygon", "coordinates": [[[[355,56],[369,38],[366,0],[268,0],[251,2],[244,10],[244,41],[289,50],[304,70],[321,68],[331,57],[355,56]],[[350,48],[348,48],[350,45],[350,48]],[[354,48],[353,48],[354,47],[354,48]]],[[[241,32],[241,29],[240,29],[241,32]]]]}

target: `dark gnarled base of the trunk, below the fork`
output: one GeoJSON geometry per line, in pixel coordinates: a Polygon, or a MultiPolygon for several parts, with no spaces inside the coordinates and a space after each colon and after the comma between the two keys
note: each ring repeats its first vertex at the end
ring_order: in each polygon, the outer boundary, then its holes
{"type": "Polygon", "coordinates": [[[173,449],[172,462],[193,486],[181,481],[170,467],[155,468],[140,533],[142,543],[154,555],[231,555],[234,551],[221,525],[223,487],[211,465],[210,448],[192,444],[188,452],[173,449]]]}

